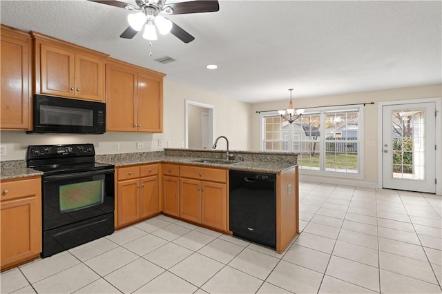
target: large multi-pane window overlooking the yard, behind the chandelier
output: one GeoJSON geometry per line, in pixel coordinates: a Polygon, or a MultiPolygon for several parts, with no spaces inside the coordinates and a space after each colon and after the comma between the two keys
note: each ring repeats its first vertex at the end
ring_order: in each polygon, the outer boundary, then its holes
{"type": "Polygon", "coordinates": [[[262,150],[299,153],[301,170],[361,176],[363,108],[306,110],[293,124],[277,112],[262,115],[262,150]]]}

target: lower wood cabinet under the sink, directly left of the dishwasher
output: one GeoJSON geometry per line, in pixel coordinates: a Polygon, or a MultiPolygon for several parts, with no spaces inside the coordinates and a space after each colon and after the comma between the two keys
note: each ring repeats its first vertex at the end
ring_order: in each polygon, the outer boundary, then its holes
{"type": "Polygon", "coordinates": [[[180,217],[227,231],[227,170],[180,167],[180,217]]]}

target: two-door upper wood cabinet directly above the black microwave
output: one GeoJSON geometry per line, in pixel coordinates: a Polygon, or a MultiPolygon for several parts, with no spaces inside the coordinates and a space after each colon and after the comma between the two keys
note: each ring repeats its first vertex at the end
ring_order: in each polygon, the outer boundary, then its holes
{"type": "Polygon", "coordinates": [[[35,38],[35,92],[104,102],[107,55],[31,32],[35,38]]]}

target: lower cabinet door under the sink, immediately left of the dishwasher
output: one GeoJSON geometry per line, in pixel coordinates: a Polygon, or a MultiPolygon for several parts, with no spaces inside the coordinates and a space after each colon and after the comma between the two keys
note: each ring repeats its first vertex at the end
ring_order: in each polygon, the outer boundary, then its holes
{"type": "Polygon", "coordinates": [[[227,231],[226,184],[202,182],[201,223],[227,231]]]}

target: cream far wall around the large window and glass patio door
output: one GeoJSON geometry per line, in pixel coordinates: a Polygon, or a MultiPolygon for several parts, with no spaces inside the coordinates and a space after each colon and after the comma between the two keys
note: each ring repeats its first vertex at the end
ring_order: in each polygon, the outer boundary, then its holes
{"type": "MultiPolygon", "coordinates": [[[[309,97],[304,99],[294,99],[295,108],[311,108],[339,104],[363,104],[365,102],[374,102],[368,104],[364,108],[364,175],[367,186],[374,186],[378,182],[378,102],[382,101],[398,101],[420,98],[442,99],[442,84],[398,88],[391,90],[378,90],[372,92],[358,92],[345,95],[332,95],[323,97],[309,97]],[[368,142],[374,142],[375,146],[368,146],[368,142]]],[[[256,111],[260,110],[278,110],[285,109],[289,105],[289,99],[277,101],[273,103],[252,104],[251,106],[251,125],[259,126],[260,115],[256,111]]],[[[442,115],[442,114],[441,114],[442,115]]],[[[441,126],[442,128],[442,126],[441,126]]],[[[256,130],[251,137],[252,150],[260,148],[260,132],[256,130]]],[[[442,148],[439,148],[442,157],[442,148]]],[[[302,174],[302,171],[301,171],[302,174]]],[[[339,179],[336,179],[337,181],[339,179]]],[[[342,179],[340,179],[343,182],[342,179]]],[[[334,179],[331,179],[334,181],[334,179]]],[[[349,183],[351,184],[351,183],[349,183]]],[[[361,183],[358,183],[361,184],[361,183]]]]}

